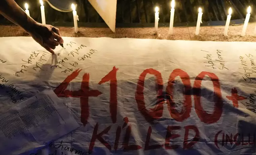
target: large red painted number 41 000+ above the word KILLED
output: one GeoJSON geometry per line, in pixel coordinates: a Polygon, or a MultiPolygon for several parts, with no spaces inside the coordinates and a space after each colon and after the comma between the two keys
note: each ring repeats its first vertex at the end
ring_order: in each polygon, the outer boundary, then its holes
{"type": "MultiPolygon", "coordinates": [[[[113,69],[101,79],[99,85],[110,81],[110,101],[109,101],[109,110],[112,119],[112,123],[116,123],[116,115],[117,115],[117,80],[116,80],[116,72],[118,68],[113,67],[113,69]]],[[[67,90],[68,84],[75,79],[81,70],[76,70],[72,74],[70,74],[55,90],[54,93],[58,97],[78,97],[80,98],[80,106],[81,106],[81,123],[85,126],[87,124],[87,120],[89,117],[89,96],[99,96],[102,92],[98,90],[90,90],[89,89],[89,74],[85,73],[83,75],[83,80],[81,82],[81,89],[78,91],[70,91],[67,90]]],[[[152,68],[144,70],[140,75],[137,83],[136,89],[136,102],[138,106],[138,110],[145,117],[146,121],[151,122],[155,119],[159,119],[163,114],[163,104],[167,104],[170,115],[176,121],[184,121],[188,117],[190,117],[190,112],[192,108],[192,96],[194,96],[194,104],[195,111],[200,120],[204,123],[215,123],[217,122],[222,113],[223,100],[221,96],[221,88],[218,77],[209,72],[201,72],[194,81],[193,87],[191,87],[190,77],[186,72],[181,69],[175,69],[170,74],[168,85],[166,87],[166,91],[163,91],[163,79],[161,73],[152,68]],[[147,109],[145,107],[144,102],[144,82],[147,74],[151,74],[155,76],[155,82],[157,84],[157,93],[158,96],[165,96],[160,98],[160,103],[155,105],[155,108],[147,109]],[[173,87],[175,83],[175,77],[179,76],[182,79],[182,83],[185,87],[183,90],[184,101],[182,110],[179,112],[175,108],[175,102],[173,101],[173,87]],[[201,84],[205,76],[208,76],[210,80],[213,82],[213,100],[214,100],[214,109],[213,113],[207,113],[200,101],[201,98],[201,84]],[[188,93],[190,92],[190,93],[188,93]],[[167,94],[168,100],[166,100],[167,94]],[[163,102],[166,101],[166,102],[163,102]]],[[[229,96],[227,96],[229,97],[229,96]]],[[[232,96],[231,96],[232,97],[232,96]]],[[[231,98],[232,99],[232,98],[231,98]]],[[[244,98],[241,98],[244,99],[244,98]]]]}

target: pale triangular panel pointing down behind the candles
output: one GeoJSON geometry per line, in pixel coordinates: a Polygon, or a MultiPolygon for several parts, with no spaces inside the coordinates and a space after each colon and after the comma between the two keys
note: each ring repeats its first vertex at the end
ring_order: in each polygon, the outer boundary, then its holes
{"type": "Polygon", "coordinates": [[[116,29],[116,3],[117,0],[88,0],[101,18],[115,32],[116,29]]]}

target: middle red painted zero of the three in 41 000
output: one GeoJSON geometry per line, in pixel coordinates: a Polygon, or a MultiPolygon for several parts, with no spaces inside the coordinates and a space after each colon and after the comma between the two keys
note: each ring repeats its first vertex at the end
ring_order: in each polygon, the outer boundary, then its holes
{"type": "Polygon", "coordinates": [[[173,72],[170,74],[169,80],[168,80],[168,85],[166,88],[166,92],[171,95],[171,100],[169,101],[170,106],[168,106],[169,112],[171,114],[171,117],[175,119],[178,122],[182,122],[188,117],[190,117],[190,112],[191,112],[191,107],[192,107],[192,100],[191,100],[191,95],[184,95],[184,102],[183,102],[183,107],[180,112],[178,112],[175,108],[175,102],[173,102],[173,86],[175,84],[175,77],[180,76],[182,79],[182,83],[185,87],[183,92],[188,92],[191,90],[191,84],[190,84],[190,77],[186,72],[184,72],[181,69],[175,69],[173,72]]]}

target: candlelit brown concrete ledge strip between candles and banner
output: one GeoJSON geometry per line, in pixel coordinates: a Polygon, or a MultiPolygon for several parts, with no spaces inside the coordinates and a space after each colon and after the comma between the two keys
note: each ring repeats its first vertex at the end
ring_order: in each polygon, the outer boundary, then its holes
{"type": "MultiPolygon", "coordinates": [[[[222,42],[256,42],[254,29],[256,23],[250,23],[246,30],[246,36],[241,37],[243,25],[229,26],[229,36],[223,36],[224,26],[202,26],[200,35],[195,36],[195,27],[175,27],[174,34],[169,36],[168,27],[160,27],[159,34],[154,35],[154,28],[116,28],[113,33],[109,28],[86,28],[80,27],[77,34],[72,27],[58,27],[62,36],[69,37],[110,37],[110,38],[147,38],[166,40],[200,40],[222,42]]],[[[0,37],[29,36],[18,26],[0,25],[0,37]]]]}

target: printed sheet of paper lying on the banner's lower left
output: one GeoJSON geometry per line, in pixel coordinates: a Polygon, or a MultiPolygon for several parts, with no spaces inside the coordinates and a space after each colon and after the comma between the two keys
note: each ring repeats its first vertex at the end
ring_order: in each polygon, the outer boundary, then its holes
{"type": "Polygon", "coordinates": [[[45,90],[0,116],[0,152],[18,155],[43,147],[79,127],[52,90],[45,90]]]}

